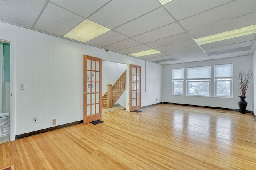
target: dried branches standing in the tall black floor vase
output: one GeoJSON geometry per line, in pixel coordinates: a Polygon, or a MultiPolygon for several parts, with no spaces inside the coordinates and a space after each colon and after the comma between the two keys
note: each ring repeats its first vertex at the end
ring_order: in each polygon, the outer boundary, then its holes
{"type": "Polygon", "coordinates": [[[239,78],[238,77],[236,78],[239,83],[239,91],[240,91],[241,97],[245,96],[251,77],[252,77],[251,70],[249,70],[247,74],[245,74],[245,71],[239,71],[239,78]]]}

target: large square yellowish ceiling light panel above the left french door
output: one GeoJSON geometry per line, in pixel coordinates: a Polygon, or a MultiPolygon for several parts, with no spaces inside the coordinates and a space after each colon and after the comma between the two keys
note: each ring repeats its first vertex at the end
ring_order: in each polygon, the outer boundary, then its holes
{"type": "Polygon", "coordinates": [[[64,37],[85,43],[108,31],[110,31],[110,29],[86,19],[64,35],[64,37]]]}

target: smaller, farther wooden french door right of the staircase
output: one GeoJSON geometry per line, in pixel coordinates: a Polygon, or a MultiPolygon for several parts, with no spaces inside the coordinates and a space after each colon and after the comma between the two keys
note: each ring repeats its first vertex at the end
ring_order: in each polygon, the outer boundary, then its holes
{"type": "Polygon", "coordinates": [[[141,109],[141,66],[129,65],[130,111],[141,109]]]}

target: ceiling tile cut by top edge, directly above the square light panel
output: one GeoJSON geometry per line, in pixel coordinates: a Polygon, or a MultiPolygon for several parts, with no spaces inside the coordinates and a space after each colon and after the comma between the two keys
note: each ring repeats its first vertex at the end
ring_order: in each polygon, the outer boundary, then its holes
{"type": "Polygon", "coordinates": [[[107,0],[50,0],[50,2],[85,18],[108,3],[107,0]]]}

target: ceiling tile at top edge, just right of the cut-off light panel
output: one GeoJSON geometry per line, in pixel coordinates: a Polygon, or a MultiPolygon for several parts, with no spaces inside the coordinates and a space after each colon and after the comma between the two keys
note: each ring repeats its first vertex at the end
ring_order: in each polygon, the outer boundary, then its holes
{"type": "Polygon", "coordinates": [[[217,6],[226,4],[226,0],[178,0],[166,4],[164,7],[176,18],[181,20],[195,14],[210,10],[217,6]]]}

